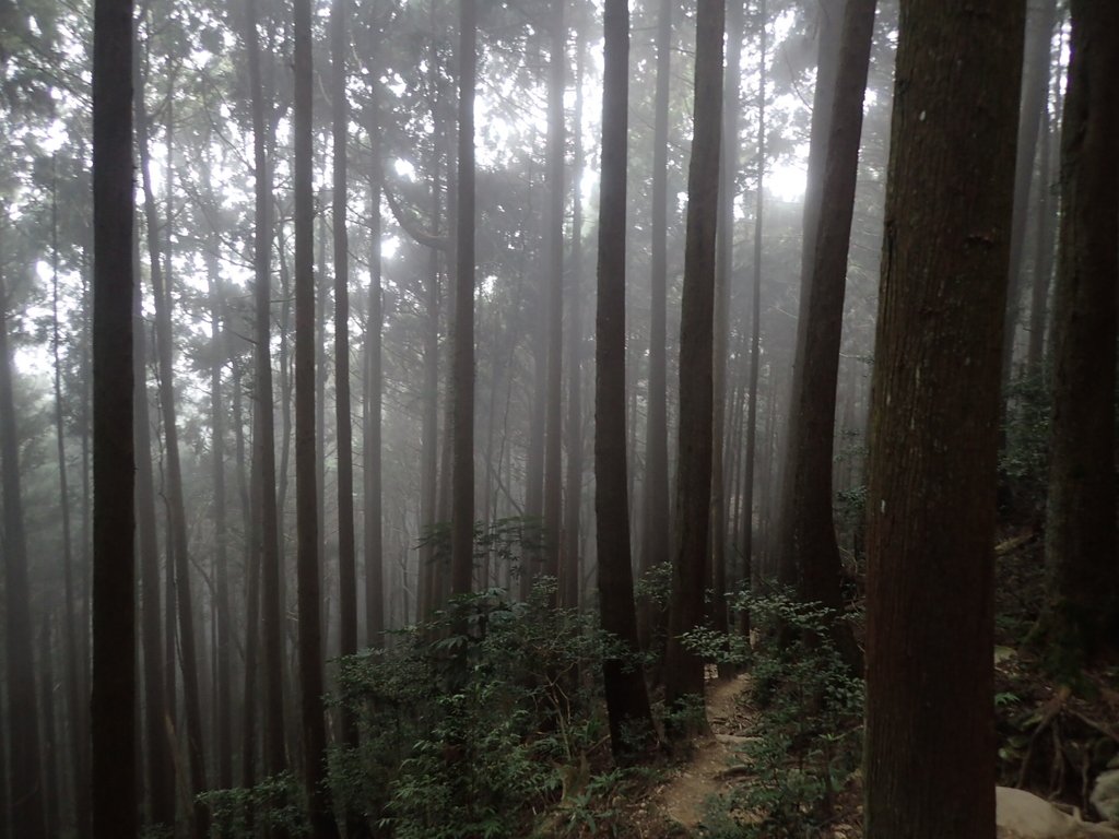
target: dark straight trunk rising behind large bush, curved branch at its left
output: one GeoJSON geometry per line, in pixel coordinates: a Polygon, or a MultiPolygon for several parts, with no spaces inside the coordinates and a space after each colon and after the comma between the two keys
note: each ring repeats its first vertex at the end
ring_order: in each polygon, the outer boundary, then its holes
{"type": "Polygon", "coordinates": [[[454,277],[451,594],[469,594],[474,562],[474,84],[477,0],[459,20],[459,185],[454,277]]]}

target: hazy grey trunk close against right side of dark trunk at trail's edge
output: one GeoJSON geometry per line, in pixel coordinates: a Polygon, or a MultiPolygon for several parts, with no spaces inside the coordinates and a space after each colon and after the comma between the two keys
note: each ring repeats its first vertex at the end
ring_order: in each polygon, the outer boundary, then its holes
{"type": "MultiPolygon", "coordinates": [[[[715,326],[712,371],[712,454],[711,454],[711,582],[712,626],[726,632],[726,545],[728,496],[724,474],[726,440],[727,332],[730,331],[730,292],[734,275],[734,199],[739,176],[739,78],[742,75],[742,7],[744,0],[730,0],[726,9],[726,70],[723,85],[723,142],[720,147],[718,220],[715,254],[715,326]]],[[[730,676],[720,666],[722,676],[730,676]]]]}

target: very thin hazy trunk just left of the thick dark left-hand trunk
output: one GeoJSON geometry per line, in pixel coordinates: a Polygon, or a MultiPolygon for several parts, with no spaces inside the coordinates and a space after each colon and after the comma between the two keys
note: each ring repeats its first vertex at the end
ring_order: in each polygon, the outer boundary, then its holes
{"type": "MultiPolygon", "coordinates": [[[[62,507],[63,524],[63,590],[65,597],[65,645],[66,645],[66,705],[67,732],[69,734],[69,769],[73,779],[74,822],[76,835],[88,836],[90,832],[90,767],[83,708],[84,685],[79,664],[83,656],[78,647],[79,632],[84,635],[85,626],[78,630],[76,603],[76,583],[74,579],[74,540],[70,525],[69,478],[66,470],[66,428],[63,421],[63,379],[62,379],[62,336],[58,323],[58,175],[56,161],[51,158],[51,195],[50,195],[50,258],[51,258],[51,340],[50,351],[55,361],[55,441],[58,452],[58,498],[62,507]]],[[[158,593],[157,593],[158,596],[158,593]]],[[[0,755],[4,752],[0,751],[0,755]]],[[[0,757],[0,761],[6,760],[0,757]]]]}

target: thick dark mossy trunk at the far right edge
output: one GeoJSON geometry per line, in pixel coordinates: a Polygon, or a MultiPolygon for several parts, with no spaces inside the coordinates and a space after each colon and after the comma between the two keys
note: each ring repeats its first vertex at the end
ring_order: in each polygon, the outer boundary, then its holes
{"type": "Polygon", "coordinates": [[[1041,622],[1050,668],[1079,678],[1119,648],[1115,389],[1119,289],[1119,7],[1073,0],[1061,130],[1061,233],[1053,300],[1041,622]]]}

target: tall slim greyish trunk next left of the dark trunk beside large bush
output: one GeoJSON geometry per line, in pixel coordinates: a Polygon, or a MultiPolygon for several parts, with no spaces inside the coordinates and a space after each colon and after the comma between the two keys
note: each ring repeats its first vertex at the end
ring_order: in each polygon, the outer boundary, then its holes
{"type": "MultiPolygon", "coordinates": [[[[256,0],[247,0],[245,48],[248,53],[250,94],[253,111],[253,172],[255,179],[255,228],[253,232],[254,298],[256,324],[254,334],[256,406],[253,412],[253,486],[252,503],[256,507],[258,526],[253,543],[257,545],[261,581],[261,632],[264,635],[264,771],[273,775],[288,767],[283,724],[283,612],[280,592],[280,526],[276,501],[275,425],[272,396],[272,169],[266,154],[267,123],[261,79],[261,47],[256,27],[256,0]]],[[[257,519],[254,517],[254,521],[257,519]]],[[[252,571],[250,582],[252,582],[252,571]]],[[[250,615],[255,605],[250,585],[250,615]]],[[[255,623],[255,622],[254,622],[255,623]]],[[[254,624],[251,624],[254,625],[254,624]]],[[[246,677],[247,678],[247,677],[246,677]]],[[[247,681],[246,681],[247,686],[247,681]]],[[[246,697],[246,704],[248,699],[246,697]]]]}

